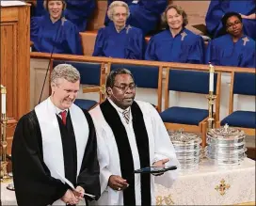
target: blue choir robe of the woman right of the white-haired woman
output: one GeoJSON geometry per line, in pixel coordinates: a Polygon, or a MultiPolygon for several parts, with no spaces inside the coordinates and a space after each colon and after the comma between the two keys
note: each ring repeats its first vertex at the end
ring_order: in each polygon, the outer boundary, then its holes
{"type": "Polygon", "coordinates": [[[146,60],[202,64],[204,44],[200,36],[184,28],[174,38],[169,29],[150,40],[146,60]]]}

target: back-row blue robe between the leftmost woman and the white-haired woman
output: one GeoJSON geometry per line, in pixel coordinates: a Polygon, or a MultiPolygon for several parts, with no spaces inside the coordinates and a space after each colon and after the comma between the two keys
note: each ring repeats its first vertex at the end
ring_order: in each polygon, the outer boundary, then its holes
{"type": "Polygon", "coordinates": [[[75,24],[79,30],[87,29],[88,18],[96,8],[95,0],[66,0],[65,18],[75,24]]]}

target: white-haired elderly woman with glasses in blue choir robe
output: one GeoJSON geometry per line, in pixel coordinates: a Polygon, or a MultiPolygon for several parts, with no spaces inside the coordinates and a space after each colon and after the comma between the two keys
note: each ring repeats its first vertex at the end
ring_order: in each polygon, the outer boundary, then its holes
{"type": "Polygon", "coordinates": [[[113,22],[99,29],[92,55],[142,59],[144,36],[139,28],[126,24],[129,14],[128,5],[122,1],[108,7],[108,18],[113,22]]]}

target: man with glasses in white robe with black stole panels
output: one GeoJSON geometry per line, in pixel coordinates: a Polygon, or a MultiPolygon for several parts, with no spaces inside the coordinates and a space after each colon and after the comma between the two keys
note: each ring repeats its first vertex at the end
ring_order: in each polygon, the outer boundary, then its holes
{"type": "Polygon", "coordinates": [[[154,179],[161,178],[170,186],[178,170],[159,177],[134,171],[148,166],[180,166],[165,125],[152,104],[134,101],[136,85],[130,71],[111,71],[106,92],[107,100],[89,111],[101,168],[102,196],[94,203],[155,205],[154,179]]]}

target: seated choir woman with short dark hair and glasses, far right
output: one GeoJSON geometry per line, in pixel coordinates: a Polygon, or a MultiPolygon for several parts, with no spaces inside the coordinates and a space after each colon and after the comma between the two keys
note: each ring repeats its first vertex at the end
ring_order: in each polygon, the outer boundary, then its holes
{"type": "Polygon", "coordinates": [[[227,34],[210,41],[206,63],[255,68],[255,41],[243,34],[241,15],[228,12],[223,16],[222,24],[227,34]]]}

